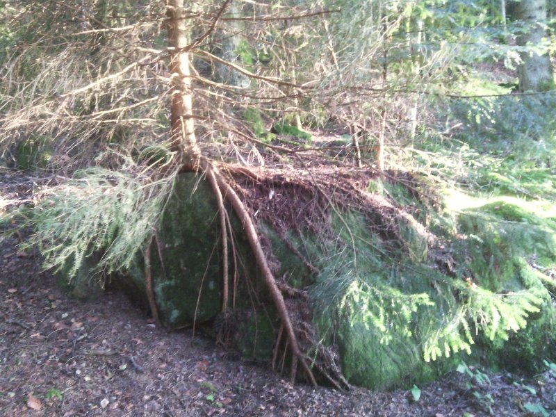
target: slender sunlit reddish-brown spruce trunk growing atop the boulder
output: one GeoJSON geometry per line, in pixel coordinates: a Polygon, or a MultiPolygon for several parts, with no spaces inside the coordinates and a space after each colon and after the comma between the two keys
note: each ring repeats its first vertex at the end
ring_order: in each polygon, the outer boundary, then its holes
{"type": "Polygon", "coordinates": [[[184,0],[167,0],[168,51],[170,53],[170,139],[172,151],[193,168],[200,150],[195,137],[193,98],[188,46],[190,29],[186,26],[184,0]]]}

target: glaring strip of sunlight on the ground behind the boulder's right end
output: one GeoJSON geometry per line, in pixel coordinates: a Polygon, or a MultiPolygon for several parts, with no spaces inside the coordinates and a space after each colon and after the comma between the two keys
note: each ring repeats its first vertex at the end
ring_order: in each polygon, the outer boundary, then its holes
{"type": "Polygon", "coordinates": [[[555,218],[556,205],[548,200],[526,200],[509,195],[498,195],[493,197],[482,197],[469,195],[461,190],[450,189],[445,194],[445,204],[450,211],[464,211],[470,208],[479,208],[486,204],[500,202],[512,204],[525,211],[534,213],[539,218],[555,218]]]}

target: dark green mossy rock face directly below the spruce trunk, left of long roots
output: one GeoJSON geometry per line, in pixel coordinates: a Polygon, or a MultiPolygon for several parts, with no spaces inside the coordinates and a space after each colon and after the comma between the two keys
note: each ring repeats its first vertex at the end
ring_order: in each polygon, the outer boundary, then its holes
{"type": "Polygon", "coordinates": [[[214,318],[222,306],[215,197],[204,181],[197,182],[195,174],[176,182],[152,248],[156,302],[170,329],[214,318]]]}

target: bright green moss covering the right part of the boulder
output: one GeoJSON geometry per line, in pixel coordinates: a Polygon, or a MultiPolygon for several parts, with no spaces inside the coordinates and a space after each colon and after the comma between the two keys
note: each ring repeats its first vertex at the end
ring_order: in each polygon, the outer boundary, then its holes
{"type": "Polygon", "coordinates": [[[329,251],[337,255],[327,258],[311,300],[317,328],[329,343],[338,343],[351,382],[372,389],[423,382],[438,377],[462,354],[467,363],[493,368],[511,361],[532,364],[539,352],[551,354],[553,337],[546,335],[554,322],[539,319],[553,317],[555,309],[539,272],[524,259],[534,248],[555,259],[552,234],[532,227],[542,221],[518,207],[489,204],[469,212],[453,219],[459,222],[457,237],[445,230],[455,240],[455,277],[429,264],[424,238],[410,221],[389,224],[404,241],[395,252],[385,245],[387,236],[370,232],[364,216],[344,213],[356,241],[352,252],[345,224],[333,220],[344,246],[341,252],[338,246],[329,251]],[[514,222],[492,221],[498,217],[489,218],[491,211],[514,222]],[[498,312],[491,316],[493,311],[498,312]],[[466,330],[470,326],[473,332],[466,330]],[[509,348],[509,343],[514,345],[509,348]]]}

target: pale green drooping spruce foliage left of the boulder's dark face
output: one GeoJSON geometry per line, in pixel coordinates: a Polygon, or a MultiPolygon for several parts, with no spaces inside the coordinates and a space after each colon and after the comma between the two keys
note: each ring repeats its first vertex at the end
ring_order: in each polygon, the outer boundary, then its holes
{"type": "Polygon", "coordinates": [[[123,272],[150,243],[174,175],[156,180],[127,162],[124,170],[81,170],[35,206],[31,244],[40,248],[45,268],[64,270],[72,279],[98,254],[90,273],[123,272]]]}

